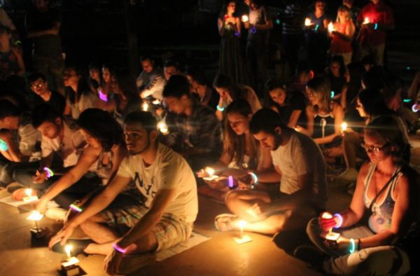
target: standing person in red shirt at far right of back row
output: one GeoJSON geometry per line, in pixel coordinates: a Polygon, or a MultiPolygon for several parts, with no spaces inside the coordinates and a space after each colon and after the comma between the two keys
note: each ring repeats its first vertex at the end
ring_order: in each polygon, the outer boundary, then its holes
{"type": "Polygon", "coordinates": [[[358,18],[358,60],[372,55],[377,65],[384,65],[386,32],[395,28],[392,9],[382,0],[371,0],[362,8],[358,18]]]}

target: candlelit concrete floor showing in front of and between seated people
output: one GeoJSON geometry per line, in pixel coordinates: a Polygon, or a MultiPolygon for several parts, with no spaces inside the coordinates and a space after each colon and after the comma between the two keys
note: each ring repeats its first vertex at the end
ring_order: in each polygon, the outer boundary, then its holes
{"type": "MultiPolygon", "coordinates": [[[[420,139],[413,149],[414,165],[420,165],[420,139]]],[[[346,186],[330,181],[327,209],[338,212],[349,206],[350,195],[346,186]]],[[[0,192],[0,197],[6,195],[0,192]]],[[[0,203],[0,275],[41,276],[58,275],[62,254],[49,251],[48,240],[31,240],[27,221],[29,209],[12,207],[0,203]]],[[[200,197],[200,212],[195,231],[211,237],[207,242],[142,268],[134,275],[319,275],[305,263],[286,254],[276,247],[271,237],[250,233],[253,241],[235,244],[232,237],[238,233],[221,233],[214,228],[217,214],[228,212],[224,205],[200,197]]],[[[55,233],[61,223],[43,218],[41,227],[55,233]]],[[[80,266],[87,275],[106,275],[103,270],[103,256],[81,256],[80,266]]]]}

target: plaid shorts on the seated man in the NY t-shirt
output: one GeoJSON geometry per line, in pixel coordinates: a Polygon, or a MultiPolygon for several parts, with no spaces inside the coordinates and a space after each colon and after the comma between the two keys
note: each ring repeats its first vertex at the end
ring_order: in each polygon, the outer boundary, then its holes
{"type": "MultiPolygon", "coordinates": [[[[132,228],[148,211],[144,205],[130,205],[123,209],[105,210],[101,215],[109,226],[125,224],[132,228]]],[[[174,214],[165,213],[152,231],[158,240],[156,251],[160,251],[188,240],[193,232],[193,223],[186,222],[174,214]]]]}

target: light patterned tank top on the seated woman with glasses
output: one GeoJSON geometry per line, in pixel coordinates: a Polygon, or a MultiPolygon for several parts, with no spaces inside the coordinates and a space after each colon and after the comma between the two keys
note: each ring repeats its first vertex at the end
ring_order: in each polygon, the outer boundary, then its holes
{"type": "MultiPolygon", "coordinates": [[[[376,163],[370,164],[369,171],[367,172],[367,177],[365,179],[365,193],[363,193],[363,199],[365,201],[366,208],[370,207],[373,200],[373,198],[368,197],[367,191],[369,190],[370,180],[372,179],[376,166],[376,163]]],[[[400,167],[397,167],[393,174],[395,174],[398,170],[400,170],[400,167]]],[[[374,233],[391,229],[392,214],[395,206],[393,191],[395,190],[395,185],[398,183],[398,179],[402,175],[402,172],[398,172],[398,174],[399,175],[397,177],[394,177],[391,184],[388,185],[388,188],[382,192],[385,194],[385,197],[380,201],[377,200],[374,202],[372,206],[372,214],[369,217],[369,228],[374,233]]]]}

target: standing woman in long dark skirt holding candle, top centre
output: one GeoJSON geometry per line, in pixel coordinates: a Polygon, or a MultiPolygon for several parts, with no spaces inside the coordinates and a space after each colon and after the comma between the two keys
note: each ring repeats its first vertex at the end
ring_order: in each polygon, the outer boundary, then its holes
{"type": "Polygon", "coordinates": [[[218,32],[221,36],[219,71],[237,83],[247,83],[239,45],[241,21],[234,15],[235,7],[235,1],[229,1],[217,19],[218,32]]]}

